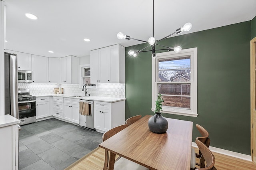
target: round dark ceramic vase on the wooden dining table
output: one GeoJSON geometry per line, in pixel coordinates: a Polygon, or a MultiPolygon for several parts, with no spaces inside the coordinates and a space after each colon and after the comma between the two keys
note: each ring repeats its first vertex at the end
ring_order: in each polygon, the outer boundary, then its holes
{"type": "Polygon", "coordinates": [[[168,121],[161,115],[161,113],[155,113],[154,116],[148,119],[148,127],[151,132],[165,133],[168,129],[168,121]]]}

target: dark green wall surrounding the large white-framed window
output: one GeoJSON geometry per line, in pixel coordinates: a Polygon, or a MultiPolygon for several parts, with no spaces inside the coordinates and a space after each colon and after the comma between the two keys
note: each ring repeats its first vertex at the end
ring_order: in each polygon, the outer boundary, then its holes
{"type": "MultiPolygon", "coordinates": [[[[193,28],[192,28],[193,29],[193,28]]],[[[198,47],[198,117],[165,114],[193,122],[208,130],[211,146],[250,155],[250,39],[251,21],[162,40],[160,44],[183,49],[198,47]]],[[[151,109],[151,52],[138,57],[126,47],[126,119],[154,115],[151,109]]]]}

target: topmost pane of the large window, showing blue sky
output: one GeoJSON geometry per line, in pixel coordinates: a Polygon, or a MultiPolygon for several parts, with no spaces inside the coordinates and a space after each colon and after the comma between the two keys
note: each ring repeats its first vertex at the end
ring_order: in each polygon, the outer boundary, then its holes
{"type": "Polygon", "coordinates": [[[191,68],[190,56],[159,59],[158,69],[187,69],[191,68]]]}

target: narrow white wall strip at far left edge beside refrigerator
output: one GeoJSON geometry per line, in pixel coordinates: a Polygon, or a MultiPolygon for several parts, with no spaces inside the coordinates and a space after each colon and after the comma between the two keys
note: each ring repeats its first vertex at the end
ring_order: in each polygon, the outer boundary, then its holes
{"type": "Polygon", "coordinates": [[[4,115],[4,2],[0,0],[0,115],[4,115]]]}

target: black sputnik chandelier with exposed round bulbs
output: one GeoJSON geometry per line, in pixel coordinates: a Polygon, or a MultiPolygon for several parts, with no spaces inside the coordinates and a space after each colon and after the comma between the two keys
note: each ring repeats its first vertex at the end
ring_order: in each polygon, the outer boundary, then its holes
{"type": "Polygon", "coordinates": [[[172,34],[170,34],[170,35],[168,35],[168,36],[166,36],[166,37],[164,37],[164,38],[162,38],[160,40],[156,40],[154,38],[154,0],[153,0],[153,36],[150,37],[148,39],[148,41],[144,41],[144,40],[138,40],[138,39],[135,39],[135,38],[131,38],[130,36],[124,35],[122,32],[119,32],[117,34],[117,38],[120,39],[120,40],[121,39],[126,39],[126,40],[132,39],[132,40],[137,40],[137,41],[140,41],[140,42],[148,42],[149,43],[148,46],[144,47],[141,50],[136,50],[136,51],[130,50],[130,51],[128,51],[128,54],[136,57],[139,53],[147,52],[147,51],[152,51],[152,57],[156,58],[156,51],[159,51],[159,50],[175,51],[176,53],[180,52],[181,51],[181,47],[180,46],[177,46],[177,47],[167,47],[165,45],[158,44],[158,42],[160,42],[161,40],[163,40],[165,38],[168,38],[168,37],[172,36],[173,34],[180,34],[180,33],[184,32],[184,31],[189,31],[189,30],[191,30],[191,28],[192,28],[192,24],[188,22],[183,27],[178,28],[174,33],[172,33],[172,34]],[[164,49],[156,49],[155,45],[164,47],[164,49]],[[151,50],[145,50],[148,47],[151,47],[151,50]]]}

